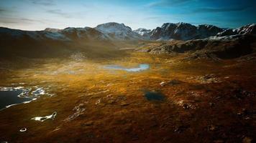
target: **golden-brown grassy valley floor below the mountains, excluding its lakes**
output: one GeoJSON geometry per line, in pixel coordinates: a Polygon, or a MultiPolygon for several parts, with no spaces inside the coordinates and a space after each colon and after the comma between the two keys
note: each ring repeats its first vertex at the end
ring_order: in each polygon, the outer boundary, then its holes
{"type": "Polygon", "coordinates": [[[254,60],[184,61],[180,59],[186,54],[125,52],[127,56],[110,59],[76,53],[66,59],[2,60],[0,87],[37,86],[50,95],[1,110],[1,141],[244,142],[254,138],[254,60]],[[140,64],[149,66],[124,70],[140,64]],[[106,68],[113,65],[123,69],[106,68]],[[52,113],[56,113],[53,118],[52,113]],[[48,115],[43,122],[33,120],[48,115]],[[25,132],[20,131],[23,128],[25,132]]]}

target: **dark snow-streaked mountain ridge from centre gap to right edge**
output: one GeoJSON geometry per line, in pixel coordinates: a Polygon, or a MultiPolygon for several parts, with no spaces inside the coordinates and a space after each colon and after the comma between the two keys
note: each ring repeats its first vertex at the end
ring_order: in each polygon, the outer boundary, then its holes
{"type": "Polygon", "coordinates": [[[201,24],[194,26],[192,24],[180,22],[178,24],[165,23],[152,31],[147,29],[134,30],[141,34],[144,39],[168,41],[168,40],[191,40],[205,39],[210,36],[231,36],[237,34],[256,34],[256,25],[248,24],[237,29],[221,29],[214,25],[201,24]]]}

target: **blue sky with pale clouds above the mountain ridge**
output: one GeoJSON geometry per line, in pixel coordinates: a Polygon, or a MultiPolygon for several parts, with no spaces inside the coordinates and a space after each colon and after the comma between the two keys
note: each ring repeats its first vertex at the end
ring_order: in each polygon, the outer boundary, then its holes
{"type": "Polygon", "coordinates": [[[43,30],[106,22],[155,29],[187,22],[236,28],[256,23],[256,0],[0,0],[0,26],[43,30]]]}

